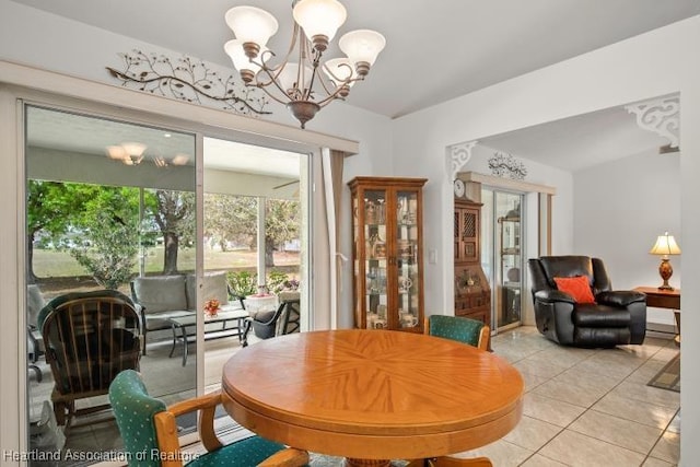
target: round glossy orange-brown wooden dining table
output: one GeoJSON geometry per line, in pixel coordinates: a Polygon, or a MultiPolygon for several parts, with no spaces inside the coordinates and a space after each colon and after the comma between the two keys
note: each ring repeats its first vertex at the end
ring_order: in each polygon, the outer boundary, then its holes
{"type": "Polygon", "coordinates": [[[222,375],[223,405],[240,424],[350,466],[497,441],[520,421],[523,390],[498,355],[390,330],[280,336],[236,352],[222,375]]]}

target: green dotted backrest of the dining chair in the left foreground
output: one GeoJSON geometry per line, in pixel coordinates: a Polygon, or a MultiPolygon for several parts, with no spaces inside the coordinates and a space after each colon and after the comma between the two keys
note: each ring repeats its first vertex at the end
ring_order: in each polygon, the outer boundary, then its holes
{"type": "Polygon", "coordinates": [[[119,373],[109,386],[114,411],[129,466],[160,467],[153,417],[166,410],[165,402],[149,396],[141,375],[133,370],[119,373]]]}

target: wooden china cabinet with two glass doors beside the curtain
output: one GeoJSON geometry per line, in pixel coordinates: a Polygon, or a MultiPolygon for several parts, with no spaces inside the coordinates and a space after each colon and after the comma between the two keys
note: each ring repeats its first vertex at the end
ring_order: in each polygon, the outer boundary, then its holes
{"type": "Polygon", "coordinates": [[[354,325],[422,332],[422,187],[425,178],[355,177],[354,325]]]}

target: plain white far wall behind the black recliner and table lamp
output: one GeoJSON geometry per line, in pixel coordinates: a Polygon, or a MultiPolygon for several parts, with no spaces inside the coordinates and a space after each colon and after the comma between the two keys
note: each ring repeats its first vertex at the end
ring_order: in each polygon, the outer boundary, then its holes
{"type": "MultiPolygon", "coordinates": [[[[656,237],[680,230],[680,153],[645,152],[574,173],[574,250],[603,258],[616,289],[656,287],[656,237]]],[[[680,287],[681,259],[673,256],[670,283],[680,287]]],[[[648,322],[674,324],[669,311],[650,310],[648,322]]]]}

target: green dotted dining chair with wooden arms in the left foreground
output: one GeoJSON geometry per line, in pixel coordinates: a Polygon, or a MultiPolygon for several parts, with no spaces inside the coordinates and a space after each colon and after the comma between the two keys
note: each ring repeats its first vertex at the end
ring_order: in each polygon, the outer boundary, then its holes
{"type": "Polygon", "coordinates": [[[180,452],[175,417],[194,411],[200,411],[199,435],[207,452],[192,455],[187,466],[296,467],[308,463],[305,451],[260,436],[222,445],[213,429],[214,410],[221,404],[220,392],[166,407],[161,399],[149,396],[138,372],[126,370],[109,386],[109,402],[132,467],[183,466],[183,460],[188,458],[180,452]]]}

